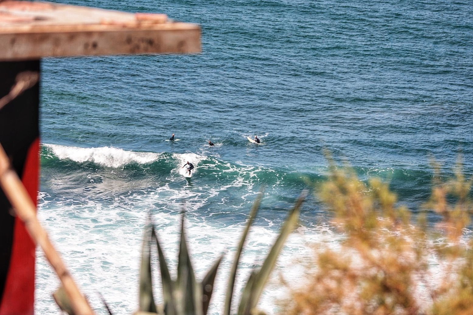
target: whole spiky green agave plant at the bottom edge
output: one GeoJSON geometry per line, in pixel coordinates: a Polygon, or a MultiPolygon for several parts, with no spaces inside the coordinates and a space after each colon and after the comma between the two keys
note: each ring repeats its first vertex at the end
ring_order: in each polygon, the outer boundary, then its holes
{"type": "MultiPolygon", "coordinates": [[[[264,260],[262,266],[254,269],[245,283],[240,302],[238,304],[237,315],[255,315],[263,314],[256,310],[256,306],[263,293],[271,275],[276,260],[281,252],[284,242],[289,233],[296,226],[299,219],[300,206],[306,196],[304,193],[296,202],[292,210],[290,210],[287,220],[280,230],[280,234],[274,245],[271,247],[269,254],[264,260]]],[[[230,314],[232,298],[234,293],[236,272],[240,261],[240,256],[245,246],[246,236],[253,224],[254,218],[258,213],[261,204],[262,194],[260,194],[253,204],[249,219],[246,223],[245,230],[238,243],[236,254],[228,277],[228,286],[224,305],[224,315],[230,314]]],[[[158,234],[152,224],[145,227],[143,243],[141,248],[141,265],[140,265],[140,297],[139,310],[135,315],[160,314],[160,315],[206,315],[210,304],[210,298],[213,292],[213,283],[215,275],[222,261],[223,255],[212,265],[201,282],[195,278],[189,252],[187,250],[187,242],[184,229],[184,215],[181,220],[181,236],[179,245],[179,257],[177,263],[177,279],[173,280],[169,273],[169,268],[164,256],[162,247],[159,243],[158,234]],[[156,244],[158,251],[159,270],[161,274],[161,285],[163,288],[163,304],[156,306],[153,297],[153,281],[151,275],[151,246],[156,244]]],[[[62,288],[59,288],[54,294],[56,303],[61,310],[70,315],[74,315],[70,307],[69,298],[66,296],[62,288]]],[[[102,298],[103,303],[109,314],[112,314],[109,307],[102,298]]]]}

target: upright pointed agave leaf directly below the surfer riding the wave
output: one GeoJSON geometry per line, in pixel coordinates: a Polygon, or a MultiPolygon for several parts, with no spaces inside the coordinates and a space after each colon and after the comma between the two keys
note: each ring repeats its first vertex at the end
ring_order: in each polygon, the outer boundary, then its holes
{"type": "Polygon", "coordinates": [[[200,315],[202,299],[198,298],[198,288],[195,281],[195,273],[192,268],[191,259],[187,250],[187,242],[184,233],[184,214],[181,220],[181,241],[179,245],[179,259],[177,262],[177,290],[181,298],[178,304],[184,309],[180,314],[200,315]]]}

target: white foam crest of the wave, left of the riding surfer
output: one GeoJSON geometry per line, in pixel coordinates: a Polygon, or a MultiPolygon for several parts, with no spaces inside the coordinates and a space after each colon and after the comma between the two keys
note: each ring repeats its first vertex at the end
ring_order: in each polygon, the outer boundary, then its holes
{"type": "Polygon", "coordinates": [[[129,163],[150,163],[158,160],[160,153],[125,151],[109,146],[81,148],[77,146],[43,144],[59,159],[75,162],[95,162],[105,167],[118,168],[129,163]]]}

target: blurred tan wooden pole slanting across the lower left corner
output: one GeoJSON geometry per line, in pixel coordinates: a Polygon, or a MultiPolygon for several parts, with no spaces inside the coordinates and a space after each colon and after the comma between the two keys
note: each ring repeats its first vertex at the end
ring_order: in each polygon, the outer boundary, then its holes
{"type": "Polygon", "coordinates": [[[3,146],[0,144],[0,186],[9,199],[11,205],[18,218],[25,223],[26,230],[36,245],[39,245],[53,266],[54,271],[64,286],[66,294],[70,298],[71,306],[76,315],[93,315],[95,314],[89,306],[86,298],[80,293],[80,290],[66,265],[62,262],[61,256],[56,251],[48,237],[47,232],[43,229],[36,217],[36,207],[30,199],[26,188],[18,178],[17,173],[11,169],[10,162],[3,146]]]}

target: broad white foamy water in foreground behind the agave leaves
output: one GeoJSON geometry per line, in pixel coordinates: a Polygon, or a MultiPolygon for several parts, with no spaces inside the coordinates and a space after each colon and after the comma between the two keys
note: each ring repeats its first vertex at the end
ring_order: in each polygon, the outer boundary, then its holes
{"type": "MultiPolygon", "coordinates": [[[[160,192],[166,191],[162,188],[160,192]]],[[[179,194],[193,193],[182,191],[179,194]]],[[[150,197],[150,196],[148,196],[150,197]]],[[[75,279],[91,300],[94,306],[100,301],[96,292],[104,295],[115,314],[131,314],[137,308],[138,275],[142,228],[147,212],[140,206],[154,202],[159,198],[135,200],[137,209],[127,210],[120,202],[105,206],[90,202],[85,205],[70,205],[59,209],[60,203],[47,202],[48,195],[41,194],[39,217],[51,232],[51,237],[64,260],[74,274],[75,279]],[[143,203],[140,205],[140,203],[143,203]]],[[[167,200],[172,204],[171,200],[167,200]]],[[[192,204],[192,203],[191,203],[192,204]]],[[[164,210],[164,209],[163,209],[164,210]]],[[[178,211],[153,214],[158,236],[166,252],[166,258],[172,274],[175,276],[179,238],[178,211]]],[[[238,239],[244,228],[244,221],[224,226],[218,221],[205,220],[198,216],[188,216],[186,233],[192,255],[194,268],[201,279],[210,265],[225,253],[215,283],[209,314],[221,313],[227,275],[236,250],[238,239]]],[[[277,237],[277,231],[270,227],[254,226],[249,234],[240,269],[237,275],[235,303],[239,300],[239,292],[255,265],[260,265],[263,258],[277,237]]],[[[279,271],[291,282],[298,280],[300,266],[295,264],[296,257],[310,255],[305,246],[310,241],[335,242],[336,238],[317,229],[299,229],[293,234],[280,256],[280,265],[274,273],[277,278],[279,271]],[[279,271],[278,271],[279,270],[279,271]]],[[[153,266],[157,266],[156,259],[153,266]]],[[[51,298],[51,292],[58,286],[56,276],[38,252],[37,261],[36,310],[40,314],[55,314],[57,308],[51,298]]],[[[154,270],[156,276],[158,271],[154,270]]],[[[154,281],[155,298],[162,302],[159,281],[154,281]]],[[[275,297],[282,297],[286,290],[272,280],[261,299],[261,308],[269,314],[274,313],[275,297]]],[[[235,306],[236,307],[236,306],[235,306]]],[[[105,310],[97,309],[98,314],[106,314],[105,310]]]]}

